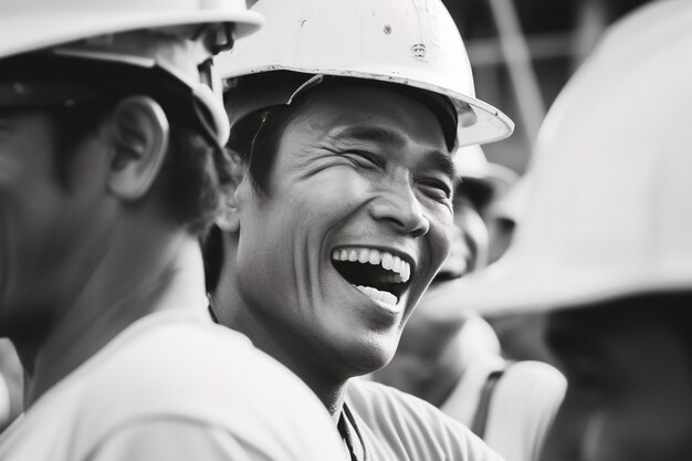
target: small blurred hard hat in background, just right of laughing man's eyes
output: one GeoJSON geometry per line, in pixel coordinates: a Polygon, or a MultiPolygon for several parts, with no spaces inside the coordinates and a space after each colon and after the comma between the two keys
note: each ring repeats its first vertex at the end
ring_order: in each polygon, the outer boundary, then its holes
{"type": "MultiPolygon", "coordinates": [[[[471,189],[481,186],[484,189],[484,197],[479,198],[480,202],[474,201],[474,205],[480,208],[503,197],[518,178],[518,175],[511,168],[487,161],[483,149],[478,144],[457,149],[454,169],[457,176],[461,178],[461,190],[465,186],[471,189]]],[[[473,191],[470,193],[473,195],[473,191]]]]}

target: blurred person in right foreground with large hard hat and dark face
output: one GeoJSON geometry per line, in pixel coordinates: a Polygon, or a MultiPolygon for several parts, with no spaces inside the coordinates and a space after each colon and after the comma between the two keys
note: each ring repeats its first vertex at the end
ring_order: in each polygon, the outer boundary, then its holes
{"type": "Polygon", "coordinates": [[[525,219],[463,296],[544,312],[569,388],[546,461],[692,459],[692,3],[614,25],[542,128],[525,219]]]}

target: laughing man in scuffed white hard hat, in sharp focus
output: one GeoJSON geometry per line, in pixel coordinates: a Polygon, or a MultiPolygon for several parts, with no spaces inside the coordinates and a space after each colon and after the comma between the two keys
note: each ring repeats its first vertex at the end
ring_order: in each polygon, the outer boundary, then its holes
{"type": "Polygon", "coordinates": [[[499,459],[427,402],[352,378],[389,362],[447,258],[457,143],[513,124],[474,97],[440,1],[284,6],[258,1],[265,27],[219,60],[235,184],[207,245],[212,311],[308,384],[352,460],[499,459]]]}

